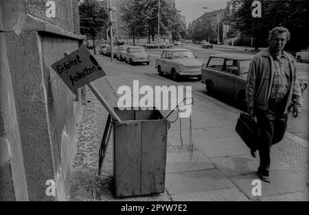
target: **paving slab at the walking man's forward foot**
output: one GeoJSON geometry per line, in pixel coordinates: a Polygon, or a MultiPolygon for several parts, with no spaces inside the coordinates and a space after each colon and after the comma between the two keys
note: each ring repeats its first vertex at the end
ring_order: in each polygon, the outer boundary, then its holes
{"type": "MultiPolygon", "coordinates": [[[[260,158],[257,152],[257,157],[254,159],[251,155],[237,155],[229,157],[215,157],[210,159],[214,166],[223,174],[233,176],[238,174],[249,174],[256,172],[260,166],[260,158]]],[[[286,170],[290,167],[278,159],[271,159],[271,170],[286,170]]]]}

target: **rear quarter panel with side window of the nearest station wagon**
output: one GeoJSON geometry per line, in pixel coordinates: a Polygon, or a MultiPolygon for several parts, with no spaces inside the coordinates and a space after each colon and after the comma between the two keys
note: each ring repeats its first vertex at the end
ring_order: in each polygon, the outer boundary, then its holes
{"type": "Polygon", "coordinates": [[[214,84],[214,90],[220,92],[220,86],[218,85],[218,77],[222,76],[222,69],[225,63],[224,58],[210,58],[207,63],[207,68],[205,69],[205,77],[203,80],[211,80],[214,84]]]}

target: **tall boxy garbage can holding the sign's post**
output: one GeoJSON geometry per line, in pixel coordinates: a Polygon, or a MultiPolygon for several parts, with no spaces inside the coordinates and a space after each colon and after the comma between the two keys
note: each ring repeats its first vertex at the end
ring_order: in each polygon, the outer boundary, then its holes
{"type": "Polygon", "coordinates": [[[114,111],[122,120],[113,124],[115,196],[164,192],[170,122],[155,109],[114,111]]]}

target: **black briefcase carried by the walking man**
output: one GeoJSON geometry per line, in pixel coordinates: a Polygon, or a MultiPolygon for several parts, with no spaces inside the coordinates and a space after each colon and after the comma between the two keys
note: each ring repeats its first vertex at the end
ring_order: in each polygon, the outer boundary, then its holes
{"type": "Polygon", "coordinates": [[[260,129],[257,122],[247,113],[240,113],[236,124],[236,133],[251,149],[258,149],[260,129]]]}

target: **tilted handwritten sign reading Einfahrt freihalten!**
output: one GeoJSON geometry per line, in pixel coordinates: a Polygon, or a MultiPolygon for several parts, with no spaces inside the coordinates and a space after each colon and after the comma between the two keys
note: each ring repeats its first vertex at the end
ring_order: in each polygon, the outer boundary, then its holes
{"type": "Polygon", "coordinates": [[[84,46],[58,60],[51,67],[71,91],[105,76],[102,67],[84,46]]]}

